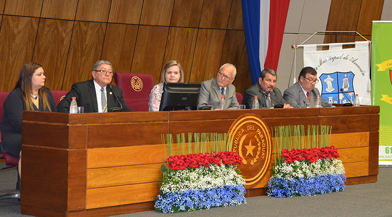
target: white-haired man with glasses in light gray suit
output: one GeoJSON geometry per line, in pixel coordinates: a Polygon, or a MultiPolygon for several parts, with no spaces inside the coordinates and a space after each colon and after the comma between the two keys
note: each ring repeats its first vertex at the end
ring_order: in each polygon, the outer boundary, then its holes
{"type": "Polygon", "coordinates": [[[219,109],[221,96],[224,96],[225,109],[240,109],[236,96],[236,87],[231,84],[236,74],[236,67],[233,64],[226,63],[219,69],[217,77],[201,82],[197,107],[212,105],[213,109],[219,109]]]}

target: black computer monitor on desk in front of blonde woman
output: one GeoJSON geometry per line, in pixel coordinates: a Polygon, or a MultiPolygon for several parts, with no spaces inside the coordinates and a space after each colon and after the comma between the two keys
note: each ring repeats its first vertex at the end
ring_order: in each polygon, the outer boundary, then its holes
{"type": "Polygon", "coordinates": [[[163,83],[159,111],[196,110],[201,84],[163,83]]]}

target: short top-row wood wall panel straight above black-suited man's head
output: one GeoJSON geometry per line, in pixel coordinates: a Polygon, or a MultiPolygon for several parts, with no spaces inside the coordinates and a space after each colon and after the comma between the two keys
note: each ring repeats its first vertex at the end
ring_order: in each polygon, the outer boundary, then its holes
{"type": "Polygon", "coordinates": [[[77,21],[107,22],[111,0],[78,0],[77,21]]]}

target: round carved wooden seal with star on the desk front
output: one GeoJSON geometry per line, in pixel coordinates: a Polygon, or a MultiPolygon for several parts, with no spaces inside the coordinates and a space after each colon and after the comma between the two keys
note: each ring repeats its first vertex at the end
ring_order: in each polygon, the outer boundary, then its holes
{"type": "Polygon", "coordinates": [[[234,121],[229,133],[234,135],[230,151],[237,152],[243,158],[243,165],[238,165],[238,168],[245,176],[246,188],[251,188],[259,183],[270,167],[270,129],[263,118],[248,113],[234,121]]]}

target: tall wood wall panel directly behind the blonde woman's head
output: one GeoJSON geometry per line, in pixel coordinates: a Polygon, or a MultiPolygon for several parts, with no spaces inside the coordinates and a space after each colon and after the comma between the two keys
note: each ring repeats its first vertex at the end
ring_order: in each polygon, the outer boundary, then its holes
{"type": "Polygon", "coordinates": [[[196,28],[171,27],[162,69],[170,60],[177,60],[184,71],[184,82],[189,82],[197,37],[196,28]]]}

